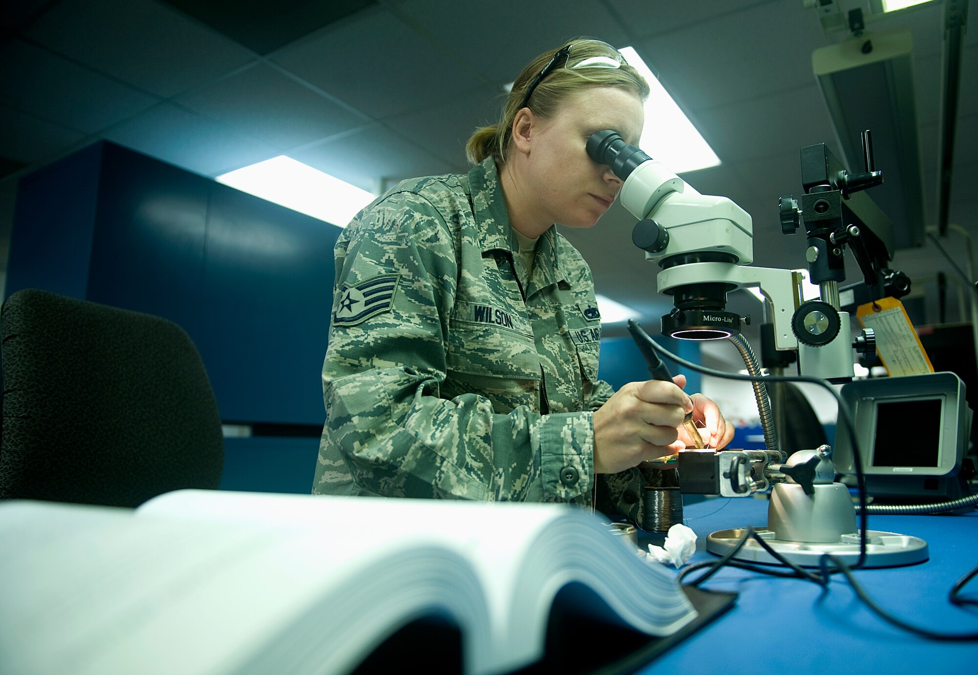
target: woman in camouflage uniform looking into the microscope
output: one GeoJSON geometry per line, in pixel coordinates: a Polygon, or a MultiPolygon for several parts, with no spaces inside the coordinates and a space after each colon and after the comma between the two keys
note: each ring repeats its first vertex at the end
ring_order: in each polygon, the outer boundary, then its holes
{"type": "Polygon", "coordinates": [[[609,45],[575,40],[516,78],[467,174],[404,181],[335,247],[313,492],[573,502],[641,522],[646,460],[733,436],[685,379],[598,380],[591,271],[555,223],[591,227],[621,181],[591,134],[637,144],[648,85],[609,45]]]}

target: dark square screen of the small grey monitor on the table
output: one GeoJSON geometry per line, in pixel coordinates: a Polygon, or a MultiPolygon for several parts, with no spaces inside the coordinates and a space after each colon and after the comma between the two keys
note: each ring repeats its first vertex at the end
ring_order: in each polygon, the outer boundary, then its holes
{"type": "Polygon", "coordinates": [[[937,467],[941,443],[940,398],[876,404],[873,467],[937,467]]]}

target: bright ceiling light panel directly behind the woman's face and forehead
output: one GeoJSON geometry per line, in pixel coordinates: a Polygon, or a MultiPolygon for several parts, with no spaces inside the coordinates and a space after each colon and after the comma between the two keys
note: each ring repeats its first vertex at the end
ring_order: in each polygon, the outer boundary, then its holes
{"type": "Polygon", "coordinates": [[[645,153],[676,173],[719,166],[720,158],[645,66],[639,53],[632,47],[623,48],[621,53],[645,77],[651,90],[645,102],[645,128],[639,142],[645,153]]]}

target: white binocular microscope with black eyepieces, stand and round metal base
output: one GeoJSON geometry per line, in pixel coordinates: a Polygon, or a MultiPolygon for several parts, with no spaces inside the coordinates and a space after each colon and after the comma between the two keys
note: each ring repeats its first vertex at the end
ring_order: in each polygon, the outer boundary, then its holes
{"type": "MultiPolygon", "coordinates": [[[[680,452],[680,491],[746,497],[771,490],[768,525],[759,534],[778,554],[802,565],[818,566],[824,553],[854,562],[860,552],[856,511],[848,488],[835,482],[828,445],[791,449],[790,455],[778,447],[762,371],[740,335],[741,324],[748,319],[727,311],[727,294],[759,289],[774,325],[775,348],[797,352],[804,376],[849,382],[854,376],[854,349],[870,360],[875,357],[872,332],[864,329],[854,340],[849,314],[840,309],[845,248],[853,251],[872,293],[905,294],[910,283],[906,275],[886,265],[891,258],[892,226],[863,194],[882,182],[882,172],[873,167],[868,132],[863,142],[866,170],[859,173],[847,171],[824,144],[804,148],[805,195],[800,203],[791,196],[780,200],[782,232],[793,234],[805,225],[809,275],[820,289],[819,299],[808,301],[801,299],[801,273],[751,265],[751,217],[731,200],[699,194],[613,130],[599,131],[587,142],[589,156],[610,166],[624,182],[619,198],[639,218],[632,241],[645,251],[646,260],[658,265],[659,293],[673,298],[672,311],[662,317],[662,335],[726,338],[757,378],[752,385],[766,448],[680,452]]],[[[637,340],[649,339],[641,329],[632,333],[637,340]]],[[[707,549],[718,555],[729,552],[742,531],[713,532],[707,549]]],[[[922,539],[867,531],[865,566],[909,564],[927,557],[922,539]]],[[[734,558],[777,563],[750,540],[734,558]]]]}

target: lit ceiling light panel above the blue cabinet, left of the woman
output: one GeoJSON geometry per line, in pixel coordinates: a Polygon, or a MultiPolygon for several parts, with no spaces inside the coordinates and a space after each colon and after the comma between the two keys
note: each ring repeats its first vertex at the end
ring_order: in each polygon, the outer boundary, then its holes
{"type": "Polygon", "coordinates": [[[259,161],[215,179],[269,202],[346,227],[375,195],[285,155],[259,161]]]}

